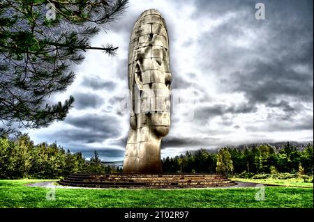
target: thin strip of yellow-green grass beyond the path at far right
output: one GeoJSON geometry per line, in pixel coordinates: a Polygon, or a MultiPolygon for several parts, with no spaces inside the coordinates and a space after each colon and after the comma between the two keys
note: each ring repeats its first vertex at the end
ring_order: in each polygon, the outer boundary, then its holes
{"type": "Polygon", "coordinates": [[[231,180],[240,182],[255,182],[260,184],[274,184],[286,187],[313,187],[313,183],[304,182],[301,178],[290,178],[290,179],[243,179],[243,178],[231,178],[231,180]]]}

